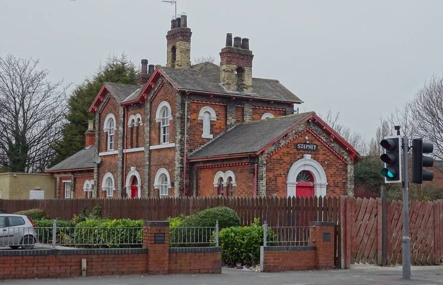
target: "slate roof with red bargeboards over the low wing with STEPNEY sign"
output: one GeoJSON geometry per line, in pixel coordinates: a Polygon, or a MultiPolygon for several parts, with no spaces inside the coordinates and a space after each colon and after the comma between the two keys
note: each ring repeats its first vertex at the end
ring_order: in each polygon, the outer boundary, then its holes
{"type": "Polygon", "coordinates": [[[358,158],[357,151],[315,112],[305,112],[239,124],[196,150],[188,157],[188,160],[257,155],[292,129],[310,119],[324,127],[324,131],[332,135],[336,142],[350,153],[351,159],[358,158]]]}

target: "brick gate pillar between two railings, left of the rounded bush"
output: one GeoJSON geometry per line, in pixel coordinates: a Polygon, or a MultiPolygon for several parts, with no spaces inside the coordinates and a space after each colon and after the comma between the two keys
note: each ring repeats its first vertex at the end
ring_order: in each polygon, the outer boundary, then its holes
{"type": "Polygon", "coordinates": [[[169,222],[145,221],[143,248],[148,249],[148,274],[168,274],[169,222]]]}

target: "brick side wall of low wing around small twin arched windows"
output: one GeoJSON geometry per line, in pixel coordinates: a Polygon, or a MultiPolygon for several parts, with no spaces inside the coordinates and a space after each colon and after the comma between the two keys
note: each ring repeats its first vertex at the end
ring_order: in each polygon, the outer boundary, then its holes
{"type": "MultiPolygon", "coordinates": [[[[209,166],[205,166],[209,167],[209,166]]],[[[197,195],[216,196],[217,187],[214,187],[214,177],[219,171],[232,171],[235,174],[237,186],[234,187],[234,196],[252,196],[254,194],[254,165],[222,166],[197,169],[197,195]]]]}

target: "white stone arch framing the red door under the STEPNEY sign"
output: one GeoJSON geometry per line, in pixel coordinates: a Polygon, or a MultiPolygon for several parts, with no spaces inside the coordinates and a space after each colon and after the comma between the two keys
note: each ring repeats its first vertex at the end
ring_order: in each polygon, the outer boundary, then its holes
{"type": "Polygon", "coordinates": [[[320,163],[311,159],[310,154],[303,155],[303,159],[296,161],[289,169],[288,180],[286,182],[287,196],[295,196],[297,191],[297,175],[303,170],[309,171],[314,177],[315,195],[326,196],[328,180],[325,170],[320,163]]]}

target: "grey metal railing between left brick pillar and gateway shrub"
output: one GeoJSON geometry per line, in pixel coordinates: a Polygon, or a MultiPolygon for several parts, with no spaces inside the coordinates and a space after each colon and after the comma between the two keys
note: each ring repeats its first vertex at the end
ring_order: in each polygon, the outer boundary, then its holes
{"type": "Polygon", "coordinates": [[[215,227],[176,227],[169,231],[170,247],[219,246],[219,222],[215,227]]]}

